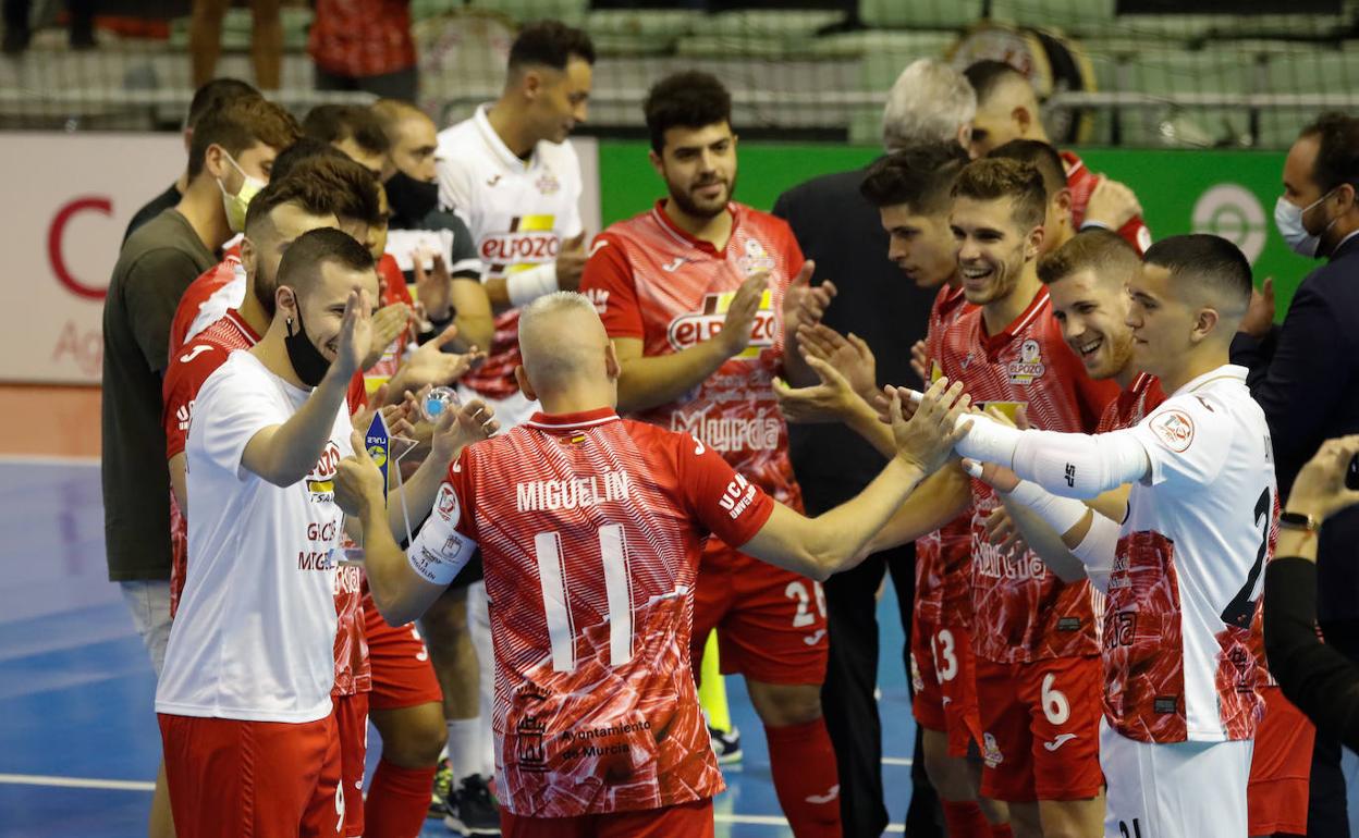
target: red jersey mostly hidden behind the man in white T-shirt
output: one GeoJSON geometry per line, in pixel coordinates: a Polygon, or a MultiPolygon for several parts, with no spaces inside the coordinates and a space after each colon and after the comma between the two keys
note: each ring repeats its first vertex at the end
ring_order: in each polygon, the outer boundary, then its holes
{"type": "MultiPolygon", "coordinates": [[[[260,335],[250,329],[241,314],[228,311],[227,316],[212,323],[181,350],[170,356],[162,384],[162,424],[166,431],[166,459],[183,454],[193,418],[193,405],[198,390],[227,356],[236,350],[250,349],[260,342],[260,335]]],[[[349,412],[366,403],[363,376],[355,376],[347,397],[349,412]]],[[[192,498],[190,498],[190,503],[192,498]]],[[[179,606],[179,595],[189,570],[189,524],[179,511],[179,503],[170,493],[170,614],[179,606]]],[[[363,636],[363,595],[359,591],[363,575],[357,568],[340,568],[336,573],[336,613],[340,625],[336,632],[336,695],[352,695],[371,689],[372,674],[368,666],[368,648],[363,636]]]]}

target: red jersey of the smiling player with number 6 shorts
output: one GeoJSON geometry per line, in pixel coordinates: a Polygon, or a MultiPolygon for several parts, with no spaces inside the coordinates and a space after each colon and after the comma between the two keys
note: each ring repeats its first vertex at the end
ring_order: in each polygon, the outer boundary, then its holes
{"type": "MultiPolygon", "coordinates": [[[[1118,393],[1114,382],[1093,382],[1061,338],[1048,289],[998,334],[987,334],[973,308],[947,329],[939,365],[966,383],[974,405],[1014,414],[1025,407],[1042,431],[1090,432],[1118,393]]],[[[976,653],[995,663],[1097,655],[1090,583],[1063,583],[1041,558],[1000,554],[987,539],[985,520],[1000,507],[991,486],[972,481],[972,603],[976,653]]]]}

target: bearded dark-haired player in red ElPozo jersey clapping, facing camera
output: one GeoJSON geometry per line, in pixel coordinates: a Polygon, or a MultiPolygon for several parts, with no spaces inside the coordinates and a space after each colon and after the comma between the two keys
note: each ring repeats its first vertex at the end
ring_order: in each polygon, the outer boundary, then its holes
{"type": "MultiPolygon", "coordinates": [[[[671,75],[651,88],[644,110],[651,164],[669,196],[602,232],[582,278],[617,345],[618,409],[692,433],[800,509],[773,379],[806,378],[796,326],[819,319],[833,285],[809,289],[814,266],[787,223],[731,200],[737,137],[718,79],[671,75]]],[[[696,670],[713,627],[723,670],[745,675],[765,725],[794,834],[840,835],[836,759],[821,716],[821,584],[709,541],[694,598],[696,670]]]]}

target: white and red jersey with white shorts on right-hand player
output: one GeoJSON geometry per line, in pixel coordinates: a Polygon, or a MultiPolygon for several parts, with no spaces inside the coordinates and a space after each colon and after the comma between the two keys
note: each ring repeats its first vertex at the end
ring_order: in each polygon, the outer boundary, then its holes
{"type": "Polygon", "coordinates": [[[1279,515],[1269,428],[1245,368],[1224,365],[1131,433],[1151,477],[1132,486],[1106,579],[1106,828],[1246,834],[1263,712],[1252,626],[1279,515]],[[1189,774],[1193,796],[1170,786],[1189,774]]]}

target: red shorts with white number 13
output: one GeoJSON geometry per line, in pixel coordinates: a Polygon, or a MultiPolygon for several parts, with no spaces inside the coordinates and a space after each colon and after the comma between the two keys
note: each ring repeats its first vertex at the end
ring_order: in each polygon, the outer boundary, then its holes
{"type": "Polygon", "coordinates": [[[949,755],[981,747],[972,634],[961,626],[916,619],[911,630],[911,710],[920,727],[947,733],[949,755]]]}

